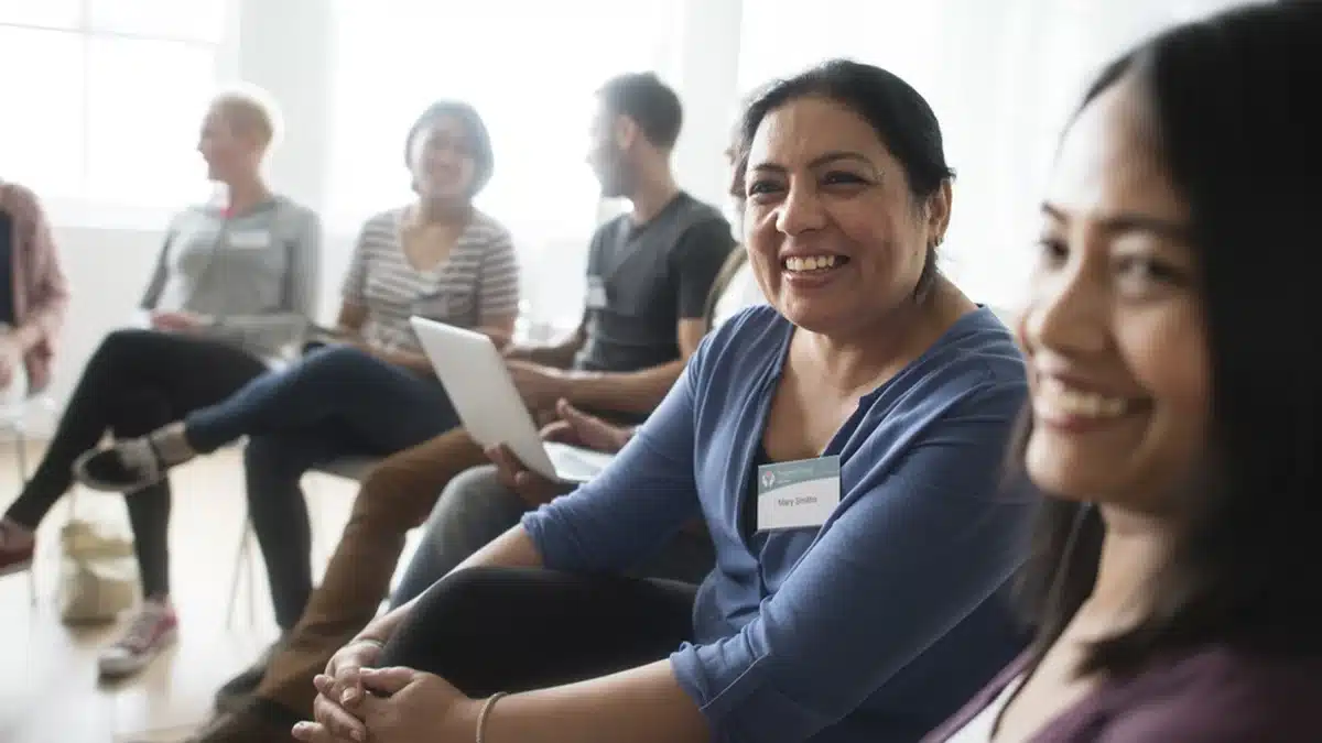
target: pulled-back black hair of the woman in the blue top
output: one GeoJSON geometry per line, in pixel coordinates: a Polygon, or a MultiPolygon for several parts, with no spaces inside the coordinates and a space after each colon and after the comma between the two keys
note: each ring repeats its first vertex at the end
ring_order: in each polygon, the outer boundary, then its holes
{"type": "MultiPolygon", "coordinates": [[[[954,177],[945,161],[941,126],[927,99],[899,75],[850,59],[832,59],[760,89],[744,110],[739,127],[739,168],[747,168],[748,147],[767,114],[809,97],[834,100],[873,127],[904,168],[915,204],[924,204],[954,177]]],[[[936,247],[928,246],[916,293],[923,295],[936,276],[936,247]]]]}

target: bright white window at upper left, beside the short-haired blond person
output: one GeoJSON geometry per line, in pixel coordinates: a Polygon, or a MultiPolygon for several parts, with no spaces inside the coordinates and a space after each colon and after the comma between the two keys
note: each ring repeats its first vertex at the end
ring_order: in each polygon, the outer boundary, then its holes
{"type": "Polygon", "coordinates": [[[4,177],[99,205],[205,196],[194,147],[226,4],[0,0],[4,177]]]}

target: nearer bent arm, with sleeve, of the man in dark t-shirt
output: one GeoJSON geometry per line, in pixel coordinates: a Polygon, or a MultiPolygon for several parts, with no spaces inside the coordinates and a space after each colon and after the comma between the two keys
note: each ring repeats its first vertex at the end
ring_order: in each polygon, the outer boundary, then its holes
{"type": "Polygon", "coordinates": [[[592,410],[650,412],[680,378],[683,365],[707,332],[707,295],[735,239],[724,219],[689,227],[670,256],[678,278],[680,323],[676,328],[680,358],[640,372],[564,372],[559,398],[592,410]]]}

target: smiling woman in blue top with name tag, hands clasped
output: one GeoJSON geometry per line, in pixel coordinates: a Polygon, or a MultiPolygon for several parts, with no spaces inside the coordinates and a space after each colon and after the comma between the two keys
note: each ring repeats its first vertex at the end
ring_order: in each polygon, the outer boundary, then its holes
{"type": "Polygon", "coordinates": [[[936,268],[936,116],[833,62],[742,140],[771,307],[715,331],[596,480],[344,646],[296,738],[907,743],[1022,649],[1003,587],[1035,501],[999,475],[1027,386],[936,268]],[[701,588],[621,576],[695,516],[701,588]]]}

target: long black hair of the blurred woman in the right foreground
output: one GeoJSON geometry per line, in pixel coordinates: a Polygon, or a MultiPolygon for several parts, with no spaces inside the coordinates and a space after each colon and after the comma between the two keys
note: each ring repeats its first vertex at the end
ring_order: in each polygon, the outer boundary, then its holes
{"type": "MultiPolygon", "coordinates": [[[[1144,98],[1190,210],[1212,393],[1151,606],[1080,673],[1210,643],[1322,650],[1322,313],[1303,270],[1322,249],[1319,40],[1318,4],[1224,12],[1112,62],[1084,99],[1121,79],[1144,98]]],[[[1039,658],[1091,594],[1103,533],[1096,509],[1046,500],[1023,583],[1039,658]]]]}

